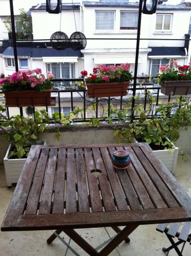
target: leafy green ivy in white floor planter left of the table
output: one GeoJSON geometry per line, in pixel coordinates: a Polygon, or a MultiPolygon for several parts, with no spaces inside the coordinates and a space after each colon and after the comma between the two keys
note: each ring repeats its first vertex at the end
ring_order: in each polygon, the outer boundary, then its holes
{"type": "MultiPolygon", "coordinates": [[[[72,112],[69,115],[61,113],[61,117],[58,112],[55,112],[50,117],[46,110],[36,111],[35,119],[21,117],[21,115],[8,118],[6,109],[0,105],[0,128],[10,143],[4,157],[7,186],[18,181],[31,145],[44,143],[40,140],[40,135],[49,132],[47,124],[68,125],[74,118],[75,115],[72,112]]],[[[59,127],[56,127],[58,141],[60,136],[59,127]]]]}

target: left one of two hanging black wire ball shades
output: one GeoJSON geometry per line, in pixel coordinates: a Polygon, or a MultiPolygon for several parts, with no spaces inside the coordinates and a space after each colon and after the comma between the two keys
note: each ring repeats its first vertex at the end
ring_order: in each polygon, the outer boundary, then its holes
{"type": "Polygon", "coordinates": [[[69,39],[65,33],[57,31],[52,34],[50,41],[53,49],[64,50],[68,47],[69,39]]]}

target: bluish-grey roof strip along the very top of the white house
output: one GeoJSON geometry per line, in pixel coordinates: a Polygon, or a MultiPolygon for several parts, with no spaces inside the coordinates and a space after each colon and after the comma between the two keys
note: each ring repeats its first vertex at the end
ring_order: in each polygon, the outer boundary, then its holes
{"type": "MultiPolygon", "coordinates": [[[[101,1],[100,2],[89,2],[84,1],[84,6],[86,7],[129,7],[129,8],[139,8],[139,2],[129,3],[128,1],[101,1]]],[[[164,9],[164,10],[183,10],[183,11],[190,11],[191,7],[185,6],[185,4],[177,4],[168,5],[168,4],[158,4],[156,9],[164,9]]]]}

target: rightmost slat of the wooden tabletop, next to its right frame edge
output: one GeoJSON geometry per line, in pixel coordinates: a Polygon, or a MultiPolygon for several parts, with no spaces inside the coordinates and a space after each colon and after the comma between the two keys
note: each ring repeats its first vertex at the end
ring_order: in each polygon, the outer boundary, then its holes
{"type": "MultiPolygon", "coordinates": [[[[141,149],[138,148],[138,147],[133,147],[133,150],[135,151],[136,155],[139,156],[139,161],[144,166],[146,172],[148,172],[149,176],[151,177],[151,180],[153,181],[154,185],[156,186],[156,188],[160,192],[160,195],[163,197],[165,203],[169,207],[173,207],[173,208],[174,207],[179,207],[179,205],[177,204],[177,201],[174,199],[174,197],[172,196],[170,191],[164,185],[164,182],[161,181],[160,177],[155,172],[153,166],[151,166],[150,162],[145,157],[143,151],[141,151],[141,149]]],[[[151,160],[151,158],[150,158],[150,160],[151,160]]],[[[154,161],[154,159],[153,159],[153,161],[154,161]]]]}

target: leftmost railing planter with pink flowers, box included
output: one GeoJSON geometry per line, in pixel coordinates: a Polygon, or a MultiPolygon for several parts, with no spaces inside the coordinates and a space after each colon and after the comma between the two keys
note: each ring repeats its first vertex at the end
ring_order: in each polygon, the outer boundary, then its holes
{"type": "Polygon", "coordinates": [[[28,107],[51,104],[52,79],[51,73],[48,73],[46,79],[41,69],[17,71],[1,79],[0,89],[6,98],[6,106],[28,107]]]}

